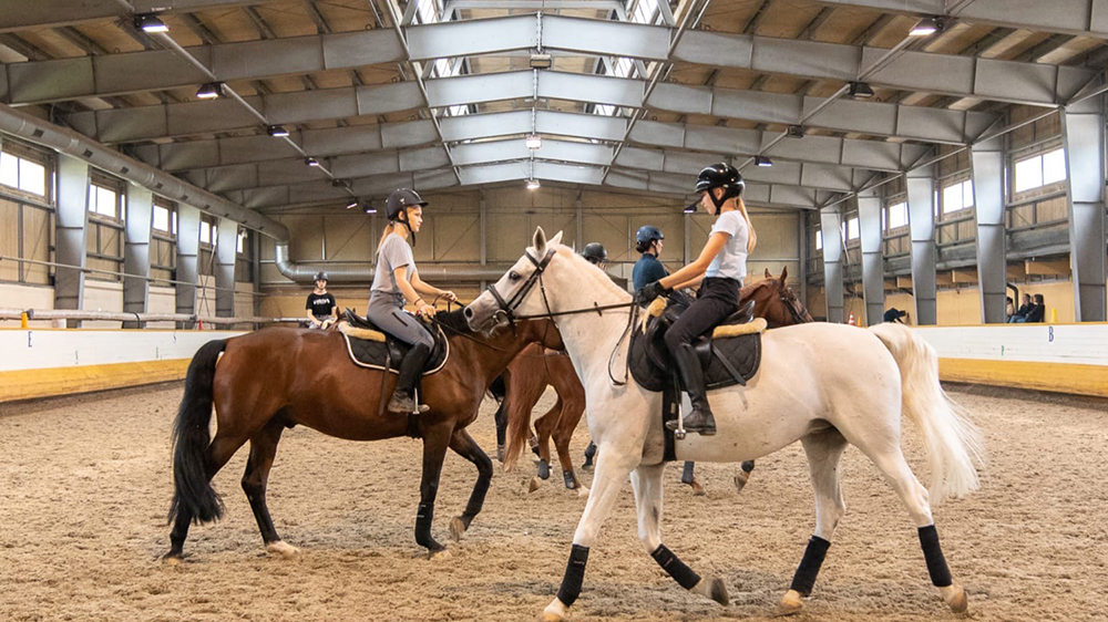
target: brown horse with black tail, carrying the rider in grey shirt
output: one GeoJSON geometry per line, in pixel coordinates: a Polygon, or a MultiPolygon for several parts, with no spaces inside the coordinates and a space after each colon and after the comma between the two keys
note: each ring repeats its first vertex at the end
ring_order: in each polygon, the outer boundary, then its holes
{"type": "Polygon", "coordinates": [[[163,559],[182,557],[188,525],[218,519],[223,501],[212,477],[247,440],[250,456],[243,476],[246,493],[266,549],[295,554],[281,541],[266,507],[266,484],[277,443],[287,427],[306,425],[349,440],[380,440],[414,432],[423,438],[423,477],[416,518],[416,541],[430,554],[444,549],[431,537],[434,498],[447,448],[478,468],[469,504],[450,523],[456,540],[481,511],[492,460],[465,431],[478,416],[485,388],[531,342],[561,348],[561,335],[548,320],[524,321],[516,330],[488,336],[472,333],[461,311],[439,313],[450,342],[450,357],[437,373],[424,376],[422,402],[430,411],[419,415],[414,431],[408,417],[383,412],[382,395],[392,393],[394,374],[355,365],[338,332],[274,328],[211,341],[188,365],[185,395],[173,431],[175,491],[170,509],[171,548],[163,559]],[[217,364],[218,363],[218,364],[217,364]],[[212,406],[215,438],[209,437],[212,406]]]}

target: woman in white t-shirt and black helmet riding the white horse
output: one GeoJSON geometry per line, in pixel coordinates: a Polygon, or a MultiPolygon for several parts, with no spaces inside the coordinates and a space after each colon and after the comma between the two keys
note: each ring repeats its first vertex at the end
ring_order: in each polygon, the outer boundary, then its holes
{"type": "Polygon", "coordinates": [[[747,255],[758,241],[742,203],[745,187],[742,176],[733,166],[716,164],[701,170],[696,183],[696,191],[702,193],[698,203],[716,217],[704,250],[693,263],[638,291],[639,301],[648,302],[700,282],[696,301],[669,326],[665,340],[693,403],[693,411],[685,416],[685,429],[705,436],[716,434],[716,418],[708,406],[704,371],[693,350],[693,340],[711,331],[739,309],[739,288],[747,276],[747,255]]]}

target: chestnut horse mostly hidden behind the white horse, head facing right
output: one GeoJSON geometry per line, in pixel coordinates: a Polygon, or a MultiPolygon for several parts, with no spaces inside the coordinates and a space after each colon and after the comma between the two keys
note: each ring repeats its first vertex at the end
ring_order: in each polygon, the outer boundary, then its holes
{"type": "MultiPolygon", "coordinates": [[[[771,329],[812,321],[808,310],[788,286],[788,268],[781,270],[780,277],[773,277],[766,270],[763,280],[739,291],[743,303],[749,300],[755,301],[755,317],[765,318],[771,329]]],[[[497,414],[503,413],[502,417],[497,417],[497,427],[507,428],[509,439],[506,450],[503,452],[504,468],[514,468],[523,448],[524,437],[531,436],[531,411],[546,387],[553,386],[557,393],[557,402],[543,416],[535,419],[535,436],[532,437],[532,443],[540,462],[538,475],[531,480],[531,490],[537,488],[540,480],[550,477],[550,439],[553,437],[566,488],[576,489],[581,496],[587,495],[588,489],[577,483],[573,459],[570,457],[570,438],[573,437],[573,432],[581,422],[581,415],[585,412],[585,388],[581,385],[570,357],[544,352],[543,346],[538,344],[531,345],[512,361],[501,379],[504,381],[506,395],[497,412],[497,414]]],[[[751,470],[753,470],[752,460],[742,464],[741,470],[735,476],[738,489],[741,490],[746,485],[751,470]]],[[[685,464],[681,481],[691,486],[696,494],[704,494],[704,488],[693,476],[693,463],[685,464]]]]}

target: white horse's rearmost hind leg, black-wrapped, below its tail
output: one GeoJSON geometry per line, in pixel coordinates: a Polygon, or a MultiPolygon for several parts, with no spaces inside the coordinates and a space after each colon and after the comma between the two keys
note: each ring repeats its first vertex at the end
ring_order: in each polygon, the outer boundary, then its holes
{"type": "MultiPolygon", "coordinates": [[[[858,444],[855,443],[855,445],[858,444]]],[[[923,548],[923,557],[927,562],[931,583],[938,588],[940,595],[951,608],[951,611],[965,613],[970,604],[968,599],[962,585],[955,583],[951,578],[946,558],[938,545],[938,532],[935,530],[935,520],[931,515],[931,498],[927,489],[920,484],[915,474],[912,473],[912,468],[904,460],[900,443],[881,444],[876,450],[865,445],[859,448],[884,474],[885,480],[907,507],[909,515],[919,530],[920,546],[923,548]]]]}

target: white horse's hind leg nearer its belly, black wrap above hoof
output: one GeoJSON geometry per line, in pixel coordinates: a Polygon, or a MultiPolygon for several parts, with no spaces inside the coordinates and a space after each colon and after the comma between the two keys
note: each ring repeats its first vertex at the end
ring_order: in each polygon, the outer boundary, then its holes
{"type": "Polygon", "coordinates": [[[801,438],[801,443],[808,454],[808,469],[815,490],[815,533],[808,541],[804,557],[792,576],[792,585],[778,604],[778,615],[791,615],[803,607],[801,599],[812,593],[815,577],[831,546],[831,537],[847,512],[839,487],[839,460],[847,448],[847,439],[839,431],[832,429],[808,435],[801,438]]]}

